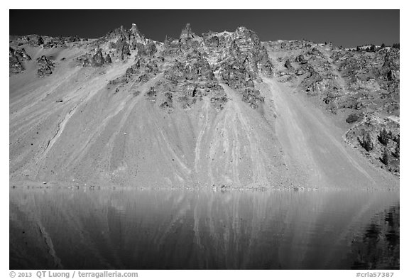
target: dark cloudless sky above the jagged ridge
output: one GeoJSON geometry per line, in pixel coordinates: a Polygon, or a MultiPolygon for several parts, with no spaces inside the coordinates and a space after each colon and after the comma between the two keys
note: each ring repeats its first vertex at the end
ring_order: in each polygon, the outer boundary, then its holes
{"type": "Polygon", "coordinates": [[[147,38],[178,37],[187,22],[198,35],[246,26],[261,40],[305,38],[344,47],[399,42],[399,10],[10,10],[10,35],[97,38],[136,23],[147,38]]]}

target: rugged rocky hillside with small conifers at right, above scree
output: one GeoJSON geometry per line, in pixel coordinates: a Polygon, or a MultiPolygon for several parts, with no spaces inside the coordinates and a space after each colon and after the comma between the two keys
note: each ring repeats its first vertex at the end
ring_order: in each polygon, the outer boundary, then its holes
{"type": "MultiPolygon", "coordinates": [[[[399,159],[391,155],[396,153],[398,146],[389,144],[378,146],[376,151],[366,151],[356,141],[356,135],[361,138],[361,131],[356,127],[368,129],[371,123],[378,126],[376,123],[385,122],[393,127],[392,132],[398,137],[400,50],[345,50],[331,44],[303,40],[264,45],[268,52],[280,52],[273,61],[277,65],[279,82],[297,87],[314,98],[322,109],[337,114],[335,117],[342,117],[344,124],[351,126],[347,132],[348,142],[376,165],[398,173],[399,159]],[[385,153],[391,158],[389,165],[380,163],[378,159],[385,153]]],[[[371,131],[371,137],[376,138],[378,132],[371,131]]]]}

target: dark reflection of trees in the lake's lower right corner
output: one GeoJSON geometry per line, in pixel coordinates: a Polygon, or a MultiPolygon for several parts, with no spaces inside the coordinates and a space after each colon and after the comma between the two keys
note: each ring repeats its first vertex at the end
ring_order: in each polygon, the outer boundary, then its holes
{"type": "Polygon", "coordinates": [[[352,241],[354,269],[399,269],[400,206],[377,214],[360,239],[352,241]]]}

